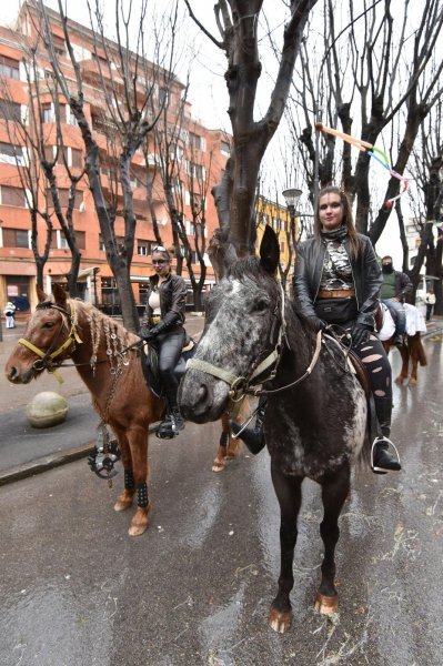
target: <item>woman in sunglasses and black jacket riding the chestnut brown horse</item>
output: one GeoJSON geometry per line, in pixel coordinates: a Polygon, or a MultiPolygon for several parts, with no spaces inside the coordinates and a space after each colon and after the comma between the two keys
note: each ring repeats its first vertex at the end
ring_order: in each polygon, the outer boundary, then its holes
{"type": "Polygon", "coordinates": [[[187,286],[183,278],[171,273],[171,255],[165,248],[158,245],[153,249],[152,265],[155,275],[150,279],[140,336],[154,343],[159,350],[159,373],[169,412],[157,435],[172,438],[184,427],[177,402],[179,382],[174,367],[185,342],[183,323],[187,286]]]}

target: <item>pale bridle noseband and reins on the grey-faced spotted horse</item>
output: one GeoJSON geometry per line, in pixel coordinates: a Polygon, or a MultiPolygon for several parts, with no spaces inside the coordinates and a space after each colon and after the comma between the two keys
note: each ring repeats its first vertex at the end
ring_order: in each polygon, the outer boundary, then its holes
{"type": "Polygon", "coordinates": [[[284,310],[285,310],[285,295],[282,285],[280,284],[281,291],[281,307],[279,311],[279,304],[275,306],[274,311],[274,323],[271,327],[270,340],[272,341],[274,336],[274,327],[279,325],[279,333],[276,336],[275,344],[272,345],[272,351],[265,356],[265,359],[252,370],[248,377],[238,376],[235,373],[230,372],[229,370],[224,370],[212,363],[208,363],[207,361],[201,361],[200,359],[190,359],[187,363],[187,369],[192,367],[194,370],[201,370],[219,380],[222,380],[230,386],[229,397],[232,402],[239,402],[243,400],[245,395],[271,395],[273,393],[280,393],[282,391],[286,391],[288,389],[292,389],[296,384],[300,384],[303,380],[305,380],[313,371],[320,355],[321,344],[322,344],[322,332],[319,331],[316,334],[316,343],[315,351],[312,357],[311,363],[304,371],[303,375],[296,379],[294,382],[286,384],[285,386],[281,386],[279,389],[273,390],[264,390],[259,389],[258,386],[264,384],[264,382],[270,382],[275,377],[276,370],[280,363],[280,357],[283,351],[282,341],[284,340],[288,347],[288,339],[286,339],[286,323],[284,319],[284,310]],[[279,316],[280,314],[280,316],[279,316]],[[265,374],[268,372],[268,374],[265,374]],[[262,376],[264,375],[264,377],[262,376]]]}

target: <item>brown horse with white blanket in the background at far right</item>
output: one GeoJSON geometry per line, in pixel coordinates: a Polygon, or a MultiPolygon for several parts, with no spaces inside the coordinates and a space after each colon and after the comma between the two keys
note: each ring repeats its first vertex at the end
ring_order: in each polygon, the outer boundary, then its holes
{"type": "MultiPolygon", "coordinates": [[[[395,383],[403,386],[415,386],[417,382],[419,365],[427,365],[426,353],[423,347],[421,334],[426,332],[426,324],[422,313],[414,305],[404,304],[406,311],[406,334],[403,337],[403,344],[396,349],[402,357],[402,367],[395,383]],[[411,375],[410,375],[411,367],[411,375]]],[[[395,322],[390,310],[382,303],[382,323],[380,327],[380,340],[383,343],[386,354],[394,345],[395,322]]]]}

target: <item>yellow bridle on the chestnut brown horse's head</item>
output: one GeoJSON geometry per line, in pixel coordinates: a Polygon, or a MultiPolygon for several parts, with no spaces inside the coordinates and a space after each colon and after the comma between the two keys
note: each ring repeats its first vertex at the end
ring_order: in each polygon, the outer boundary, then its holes
{"type": "Polygon", "coordinates": [[[82,343],[82,340],[80,339],[80,335],[77,330],[75,305],[73,304],[72,301],[68,301],[68,304],[70,307],[69,312],[68,312],[68,310],[64,310],[64,307],[61,307],[60,305],[57,305],[56,303],[52,303],[51,301],[43,301],[42,303],[39,303],[37,305],[37,310],[44,310],[44,309],[58,310],[63,315],[61,319],[61,325],[60,325],[60,330],[57,334],[57,337],[56,337],[53,344],[51,344],[51,346],[48,350],[46,350],[46,351],[40,350],[38,346],[32,344],[32,342],[29,342],[24,337],[20,337],[20,340],[19,340],[20,344],[22,344],[23,346],[26,346],[27,349],[29,349],[31,352],[33,352],[34,354],[37,354],[39,356],[39,359],[33,362],[32,367],[37,372],[41,372],[43,370],[51,372],[59,383],[62,383],[63,379],[57,372],[56,369],[63,361],[63,356],[61,356],[61,355],[63,354],[63,352],[69,350],[69,347],[73,346],[73,349],[70,350],[70,353],[72,354],[72,352],[75,350],[75,343],[78,343],[78,344],[82,343]],[[57,347],[54,350],[53,347],[57,345],[57,342],[58,342],[60,335],[62,334],[63,330],[68,330],[66,321],[69,323],[69,326],[70,326],[68,337],[59,347],[57,347]]]}

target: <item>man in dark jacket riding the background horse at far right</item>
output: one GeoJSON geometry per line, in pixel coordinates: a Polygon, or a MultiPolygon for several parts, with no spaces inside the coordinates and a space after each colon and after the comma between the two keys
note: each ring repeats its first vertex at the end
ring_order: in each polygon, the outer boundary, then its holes
{"type": "Polygon", "coordinates": [[[403,307],[404,299],[412,292],[412,282],[401,271],[394,271],[392,256],[382,259],[383,284],[380,297],[392,314],[395,324],[394,344],[401,345],[406,332],[406,312],[403,307]]]}

